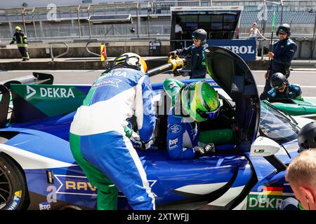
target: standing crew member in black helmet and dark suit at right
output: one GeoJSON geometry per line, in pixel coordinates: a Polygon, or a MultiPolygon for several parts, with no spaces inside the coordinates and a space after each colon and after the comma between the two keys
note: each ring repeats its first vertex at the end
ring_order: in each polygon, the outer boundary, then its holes
{"type": "Polygon", "coordinates": [[[291,36],[291,27],[284,23],[277,28],[277,36],[279,41],[273,45],[273,52],[269,52],[270,64],[269,69],[265,73],[265,87],[260,99],[267,99],[268,91],[271,89],[270,76],[274,73],[280,72],[286,78],[290,75],[291,61],[297,50],[297,45],[289,38],[291,36]]]}

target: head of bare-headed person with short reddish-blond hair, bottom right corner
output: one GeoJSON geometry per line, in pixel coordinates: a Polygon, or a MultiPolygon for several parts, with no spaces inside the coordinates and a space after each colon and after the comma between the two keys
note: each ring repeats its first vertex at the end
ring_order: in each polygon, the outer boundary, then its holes
{"type": "Polygon", "coordinates": [[[316,148],[294,158],[287,168],[286,180],[303,209],[316,210],[316,148]]]}

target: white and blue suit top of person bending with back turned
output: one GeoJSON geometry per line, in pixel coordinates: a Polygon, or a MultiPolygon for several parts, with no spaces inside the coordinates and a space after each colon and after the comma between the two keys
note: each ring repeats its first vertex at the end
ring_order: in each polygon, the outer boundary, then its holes
{"type": "Polygon", "coordinates": [[[147,142],[155,124],[150,79],[135,69],[113,69],[93,83],[79,107],[72,133],[79,135],[116,131],[125,135],[127,118],[137,118],[140,138],[147,142]]]}

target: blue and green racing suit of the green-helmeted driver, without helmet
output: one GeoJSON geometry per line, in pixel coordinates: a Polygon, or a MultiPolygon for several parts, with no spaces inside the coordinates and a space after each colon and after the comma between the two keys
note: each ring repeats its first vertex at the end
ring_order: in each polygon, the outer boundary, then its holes
{"type": "Polygon", "coordinates": [[[172,78],[164,80],[164,90],[171,97],[166,148],[172,160],[195,158],[195,146],[227,144],[235,139],[235,133],[229,129],[198,132],[197,122],[181,111],[179,92],[184,85],[172,78]]]}

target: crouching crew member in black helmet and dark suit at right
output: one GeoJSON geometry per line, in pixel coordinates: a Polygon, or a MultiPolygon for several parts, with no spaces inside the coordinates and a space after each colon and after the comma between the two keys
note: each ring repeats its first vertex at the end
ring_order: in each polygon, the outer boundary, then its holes
{"type": "Polygon", "coordinates": [[[303,100],[299,85],[290,84],[284,74],[277,72],[270,78],[272,87],[268,92],[268,99],[297,99],[303,100]]]}

